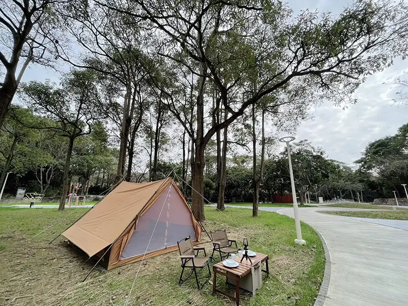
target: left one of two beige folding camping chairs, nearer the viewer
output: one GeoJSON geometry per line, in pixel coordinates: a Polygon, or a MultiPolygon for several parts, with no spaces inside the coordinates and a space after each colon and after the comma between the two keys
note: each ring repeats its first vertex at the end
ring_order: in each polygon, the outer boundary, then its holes
{"type": "Polygon", "coordinates": [[[194,272],[195,281],[197,282],[198,290],[201,290],[202,287],[204,287],[204,285],[206,285],[206,283],[211,278],[210,258],[207,257],[206,248],[203,246],[193,247],[190,236],[180,241],[177,241],[177,245],[179,246],[180,258],[182,260],[182,269],[183,269],[182,275],[180,275],[179,285],[187,281],[187,279],[194,272]],[[205,257],[198,257],[199,250],[204,251],[205,257]],[[194,253],[195,251],[197,252],[194,253]],[[205,268],[206,266],[208,267],[208,278],[207,278],[207,281],[201,284],[200,286],[200,284],[198,283],[197,269],[202,269],[202,268],[205,268]],[[190,274],[185,279],[183,279],[183,273],[184,273],[185,268],[190,268],[190,274]]]}

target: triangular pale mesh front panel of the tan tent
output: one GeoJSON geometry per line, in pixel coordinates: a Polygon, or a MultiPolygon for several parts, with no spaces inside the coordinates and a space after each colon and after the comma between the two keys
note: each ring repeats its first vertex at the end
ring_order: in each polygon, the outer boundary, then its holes
{"type": "Polygon", "coordinates": [[[120,260],[175,246],[180,237],[191,236],[192,241],[197,240],[192,218],[184,199],[170,184],[138,219],[120,260]]]}

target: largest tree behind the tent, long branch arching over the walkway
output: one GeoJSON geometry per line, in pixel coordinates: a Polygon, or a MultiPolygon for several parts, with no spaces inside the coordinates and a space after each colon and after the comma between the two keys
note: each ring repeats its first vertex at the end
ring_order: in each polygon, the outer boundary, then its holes
{"type": "MultiPolygon", "coordinates": [[[[381,0],[373,5],[371,1],[356,1],[337,16],[305,11],[297,18],[290,18],[291,11],[282,2],[269,1],[94,3],[134,18],[149,33],[151,48],[158,50],[155,54],[196,75],[196,107],[192,110],[196,129],[190,137],[194,140],[192,207],[199,220],[205,220],[201,197],[204,152],[218,130],[291,81],[297,80],[311,92],[338,103],[344,101],[365,75],[406,53],[408,16],[403,2],[381,0]],[[245,93],[251,92],[254,78],[258,90],[248,96],[245,93]],[[223,104],[229,117],[206,130],[209,80],[220,93],[214,110],[223,104]]],[[[166,72],[166,78],[177,83],[174,73],[166,72]]],[[[161,89],[173,99],[171,111],[180,115],[180,107],[174,108],[177,101],[173,91],[168,86],[161,89]]],[[[181,116],[177,118],[185,124],[181,116]]]]}

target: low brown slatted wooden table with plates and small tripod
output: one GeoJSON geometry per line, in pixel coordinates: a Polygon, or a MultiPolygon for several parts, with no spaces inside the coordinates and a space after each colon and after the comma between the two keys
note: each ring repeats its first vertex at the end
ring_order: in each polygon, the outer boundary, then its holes
{"type": "Polygon", "coordinates": [[[239,266],[236,268],[227,268],[225,267],[222,262],[219,262],[213,266],[213,271],[214,271],[214,279],[213,279],[213,294],[215,293],[220,293],[222,295],[225,295],[226,297],[231,298],[234,300],[239,306],[239,282],[240,279],[249,273],[251,273],[252,266],[255,266],[257,264],[261,264],[260,269],[262,269],[262,263],[265,262],[266,264],[266,270],[262,270],[263,272],[266,272],[267,275],[269,275],[269,265],[268,265],[268,260],[269,256],[261,253],[257,253],[256,256],[251,257],[252,264],[249,262],[249,260],[244,259],[242,263],[240,263],[240,259],[237,259],[237,262],[239,262],[239,266]],[[216,288],[217,284],[217,274],[224,275],[228,278],[235,279],[236,282],[236,289],[235,289],[235,297],[227,294],[226,292],[223,292],[219,289],[216,288]]]}

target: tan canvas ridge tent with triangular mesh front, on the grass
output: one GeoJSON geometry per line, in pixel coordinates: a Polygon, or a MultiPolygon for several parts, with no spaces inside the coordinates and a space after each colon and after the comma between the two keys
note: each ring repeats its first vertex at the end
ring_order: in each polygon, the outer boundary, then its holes
{"type": "Polygon", "coordinates": [[[120,183],[63,236],[107,269],[177,249],[177,241],[200,240],[201,226],[171,178],[120,183]],[[146,251],[147,248],[147,251],[146,251]],[[104,256],[105,254],[105,256],[104,256]]]}

